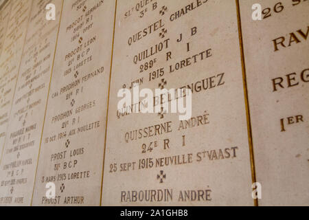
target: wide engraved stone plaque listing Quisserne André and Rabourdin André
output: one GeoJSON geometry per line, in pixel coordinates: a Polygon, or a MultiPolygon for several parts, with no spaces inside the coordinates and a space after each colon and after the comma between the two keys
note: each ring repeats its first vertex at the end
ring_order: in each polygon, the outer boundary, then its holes
{"type": "Polygon", "coordinates": [[[102,205],[252,206],[236,2],[143,2],[117,1],[102,205]],[[189,89],[192,116],[117,109],[133,83],[189,89]]]}

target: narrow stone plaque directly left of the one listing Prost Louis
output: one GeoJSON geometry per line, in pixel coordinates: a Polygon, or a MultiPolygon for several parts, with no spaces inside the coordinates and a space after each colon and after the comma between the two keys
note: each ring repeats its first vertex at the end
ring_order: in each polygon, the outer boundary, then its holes
{"type": "Polygon", "coordinates": [[[16,68],[19,74],[1,160],[0,197],[8,205],[30,206],[32,200],[61,4],[61,0],[45,0],[21,1],[21,5],[13,6],[24,13],[12,14],[24,19],[27,34],[23,50],[19,49],[23,54],[16,68]],[[56,21],[45,19],[45,5],[49,2],[56,5],[56,21]]]}

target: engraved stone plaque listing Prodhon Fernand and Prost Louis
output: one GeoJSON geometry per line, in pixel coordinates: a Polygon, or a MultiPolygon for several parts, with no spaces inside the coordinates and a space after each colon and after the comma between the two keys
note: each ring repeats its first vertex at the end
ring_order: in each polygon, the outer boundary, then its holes
{"type": "Polygon", "coordinates": [[[100,206],[115,1],[65,0],[62,14],[33,205],[100,206]]]}

